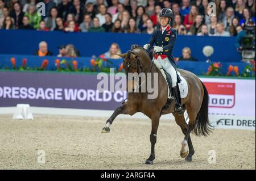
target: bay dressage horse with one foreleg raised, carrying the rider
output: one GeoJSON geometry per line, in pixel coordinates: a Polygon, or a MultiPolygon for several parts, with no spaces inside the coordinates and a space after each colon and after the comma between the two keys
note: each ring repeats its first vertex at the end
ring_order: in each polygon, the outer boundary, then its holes
{"type": "MultiPolygon", "coordinates": [[[[134,46],[129,52],[119,54],[123,58],[123,68],[125,73],[158,73],[158,96],[155,99],[147,99],[148,92],[128,92],[127,101],[121,107],[118,107],[112,116],[106,121],[105,127],[101,133],[108,133],[110,125],[112,125],[115,117],[119,114],[134,115],[134,113],[142,112],[151,119],[151,153],[146,159],[146,164],[152,164],[155,159],[155,143],[156,134],[158,131],[159,119],[163,114],[172,113],[175,117],[176,124],[180,126],[181,131],[185,134],[184,140],[181,142],[180,157],[185,158],[185,161],[192,161],[192,155],[195,153],[193,149],[190,133],[196,136],[208,136],[212,132],[212,125],[208,119],[208,91],[204,83],[193,73],[177,69],[181,76],[187,81],[188,94],[181,99],[184,110],[187,110],[189,123],[187,124],[183,115],[175,113],[175,101],[172,101],[170,106],[161,113],[163,106],[168,98],[168,85],[160,70],[152,63],[148,52],[139,46],[134,46]],[[188,149],[187,149],[188,145],[188,149]]],[[[129,80],[127,81],[134,81],[129,80]]],[[[151,83],[151,82],[150,82],[151,83]]],[[[132,84],[136,86],[135,83],[132,84]]],[[[135,87],[133,87],[133,90],[135,87]]]]}

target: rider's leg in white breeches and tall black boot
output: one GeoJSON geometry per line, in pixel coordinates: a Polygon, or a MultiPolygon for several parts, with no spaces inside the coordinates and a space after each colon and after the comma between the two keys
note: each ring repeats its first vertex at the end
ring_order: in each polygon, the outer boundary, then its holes
{"type": "Polygon", "coordinates": [[[172,78],[172,94],[174,95],[175,103],[176,103],[176,113],[182,115],[184,110],[182,108],[181,99],[180,99],[180,92],[177,89],[177,72],[172,66],[171,62],[168,58],[165,58],[162,62],[163,69],[167,71],[168,74],[171,75],[172,78]]]}

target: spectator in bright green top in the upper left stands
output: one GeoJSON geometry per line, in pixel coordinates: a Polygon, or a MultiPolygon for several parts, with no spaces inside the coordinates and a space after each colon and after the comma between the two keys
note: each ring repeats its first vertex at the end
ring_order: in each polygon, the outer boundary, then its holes
{"type": "Polygon", "coordinates": [[[38,11],[36,11],[35,5],[28,6],[28,11],[25,13],[25,16],[28,16],[30,18],[30,25],[37,30],[39,28],[39,23],[41,21],[41,16],[38,14],[38,11]]]}

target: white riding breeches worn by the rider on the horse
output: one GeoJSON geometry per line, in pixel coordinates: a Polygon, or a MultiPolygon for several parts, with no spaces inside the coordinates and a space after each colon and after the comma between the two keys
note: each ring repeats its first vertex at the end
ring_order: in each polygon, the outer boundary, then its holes
{"type": "Polygon", "coordinates": [[[171,75],[172,78],[172,87],[176,87],[177,83],[177,73],[176,70],[174,69],[174,66],[172,66],[171,62],[169,61],[168,58],[162,59],[160,56],[158,56],[158,59],[155,59],[162,65],[162,68],[167,71],[168,74],[171,75]]]}

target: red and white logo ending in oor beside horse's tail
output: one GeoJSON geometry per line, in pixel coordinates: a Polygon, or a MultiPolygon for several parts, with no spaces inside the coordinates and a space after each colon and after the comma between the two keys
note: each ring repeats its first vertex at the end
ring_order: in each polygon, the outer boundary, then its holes
{"type": "Polygon", "coordinates": [[[204,82],[204,85],[209,93],[209,107],[234,107],[236,83],[204,82]]]}

